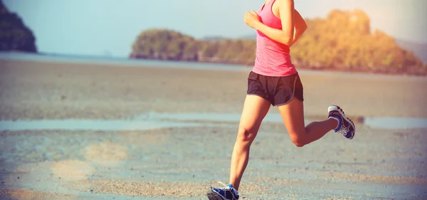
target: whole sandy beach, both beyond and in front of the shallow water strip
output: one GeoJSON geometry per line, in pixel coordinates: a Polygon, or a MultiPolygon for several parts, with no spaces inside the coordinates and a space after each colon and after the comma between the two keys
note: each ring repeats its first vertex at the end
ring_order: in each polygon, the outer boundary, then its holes
{"type": "MultiPolygon", "coordinates": [[[[0,60],[0,120],[241,112],[246,76],[0,60]]],[[[325,116],[331,103],[354,116],[427,117],[423,78],[301,78],[309,117],[325,116]]],[[[228,181],[238,126],[207,123],[0,132],[0,199],[206,199],[209,186],[228,181]]],[[[427,199],[426,133],[359,125],[354,140],[330,132],[297,148],[283,124],[263,123],[242,199],[427,199]]]]}

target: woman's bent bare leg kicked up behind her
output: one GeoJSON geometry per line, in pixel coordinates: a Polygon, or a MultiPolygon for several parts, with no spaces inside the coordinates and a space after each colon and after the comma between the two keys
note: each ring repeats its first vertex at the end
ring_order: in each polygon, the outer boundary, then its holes
{"type": "Polygon", "coordinates": [[[327,132],[338,126],[338,121],[330,118],[320,122],[312,122],[305,127],[304,103],[297,98],[293,98],[285,105],[278,106],[278,109],[289,132],[290,140],[297,147],[303,147],[305,144],[319,140],[327,132]]]}

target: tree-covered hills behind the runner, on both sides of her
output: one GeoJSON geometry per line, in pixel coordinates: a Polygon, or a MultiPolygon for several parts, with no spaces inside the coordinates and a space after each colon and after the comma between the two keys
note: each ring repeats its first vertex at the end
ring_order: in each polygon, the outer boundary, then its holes
{"type": "MultiPolygon", "coordinates": [[[[297,68],[371,73],[427,74],[413,52],[386,33],[370,30],[363,11],[333,10],[326,19],[306,19],[308,28],[291,48],[297,68]]],[[[253,65],[253,38],[197,40],[167,29],[150,29],[137,36],[130,58],[189,60],[253,65]]]]}

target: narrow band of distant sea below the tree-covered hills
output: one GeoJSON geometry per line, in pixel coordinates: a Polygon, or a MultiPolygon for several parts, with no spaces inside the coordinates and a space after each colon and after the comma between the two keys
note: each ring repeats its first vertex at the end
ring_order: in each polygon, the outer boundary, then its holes
{"type": "MultiPolygon", "coordinates": [[[[165,60],[165,59],[137,59],[125,57],[107,57],[107,56],[83,56],[60,53],[26,53],[26,52],[0,52],[0,60],[27,60],[40,62],[59,62],[59,63],[82,63],[95,65],[122,65],[127,67],[172,67],[172,68],[192,68],[199,70],[231,70],[231,71],[250,71],[251,65],[242,65],[238,63],[224,62],[200,62],[187,60],[165,60]],[[71,58],[71,60],[69,60],[71,58]],[[177,66],[179,64],[179,66],[177,66]]],[[[320,68],[301,68],[295,64],[299,73],[308,74],[327,74],[327,75],[367,75],[373,78],[427,78],[427,74],[398,74],[398,73],[377,73],[364,70],[330,70],[320,68]]]]}

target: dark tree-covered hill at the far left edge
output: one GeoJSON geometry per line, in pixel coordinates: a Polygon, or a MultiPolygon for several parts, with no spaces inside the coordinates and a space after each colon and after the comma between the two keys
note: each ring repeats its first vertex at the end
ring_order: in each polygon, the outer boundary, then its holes
{"type": "Polygon", "coordinates": [[[36,37],[21,18],[4,6],[0,0],[0,51],[36,53],[36,37]]]}

